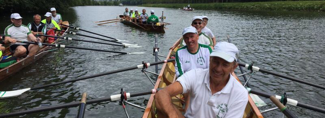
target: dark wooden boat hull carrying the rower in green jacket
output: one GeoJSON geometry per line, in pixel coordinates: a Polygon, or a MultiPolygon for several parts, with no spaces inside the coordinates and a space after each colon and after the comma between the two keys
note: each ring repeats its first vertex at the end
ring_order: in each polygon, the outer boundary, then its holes
{"type": "Polygon", "coordinates": [[[162,33],[165,32],[164,27],[165,27],[166,23],[161,24],[161,22],[159,22],[160,23],[159,25],[141,24],[141,23],[135,23],[135,22],[126,20],[123,15],[120,15],[119,17],[121,18],[121,22],[126,25],[134,26],[134,27],[137,27],[137,28],[140,28],[143,30],[147,30],[147,31],[162,32],[162,33]]]}

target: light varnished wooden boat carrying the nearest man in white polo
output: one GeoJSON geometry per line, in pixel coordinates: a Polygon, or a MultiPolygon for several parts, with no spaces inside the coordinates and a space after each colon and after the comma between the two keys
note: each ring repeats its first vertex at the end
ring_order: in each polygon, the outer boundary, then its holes
{"type": "MultiPolygon", "coordinates": [[[[176,48],[174,50],[169,50],[169,53],[168,53],[166,59],[170,58],[172,52],[177,51],[178,46],[175,46],[175,47],[176,48]]],[[[239,81],[239,79],[235,75],[235,73],[232,73],[232,75],[239,81]]],[[[160,74],[158,76],[158,79],[157,79],[154,89],[165,88],[166,86],[175,82],[175,80],[176,80],[175,63],[172,63],[172,62],[165,63],[162,66],[162,70],[160,71],[160,74]]],[[[185,112],[184,108],[183,108],[184,100],[182,99],[182,97],[183,97],[182,95],[177,95],[175,97],[172,97],[172,102],[174,103],[175,107],[178,108],[178,110],[180,110],[181,112],[185,112]]],[[[156,111],[156,107],[155,107],[155,103],[154,103],[154,94],[151,94],[142,118],[156,118],[156,117],[159,117],[159,114],[157,114],[157,111],[156,111]]],[[[243,118],[263,118],[261,112],[259,111],[259,109],[257,108],[253,99],[250,96],[248,96],[248,103],[246,105],[246,109],[245,109],[243,118]]]]}

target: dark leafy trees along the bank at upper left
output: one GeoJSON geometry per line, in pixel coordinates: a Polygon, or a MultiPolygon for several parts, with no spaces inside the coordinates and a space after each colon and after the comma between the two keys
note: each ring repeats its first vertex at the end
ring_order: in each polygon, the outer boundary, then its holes
{"type": "Polygon", "coordinates": [[[118,6],[119,0],[0,0],[0,14],[49,11],[51,7],[66,10],[72,6],[118,6]]]}

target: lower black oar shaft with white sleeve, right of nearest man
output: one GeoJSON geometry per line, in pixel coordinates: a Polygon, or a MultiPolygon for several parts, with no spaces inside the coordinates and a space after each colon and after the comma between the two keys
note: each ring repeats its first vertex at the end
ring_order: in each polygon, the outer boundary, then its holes
{"type": "MultiPolygon", "coordinates": [[[[271,95],[269,93],[262,92],[262,91],[256,91],[256,90],[250,90],[249,93],[253,93],[253,94],[256,94],[256,95],[259,95],[259,96],[263,96],[265,98],[270,98],[271,96],[273,96],[273,95],[271,95]]],[[[287,104],[302,107],[302,108],[306,108],[306,109],[313,110],[313,111],[316,111],[316,112],[325,113],[325,109],[315,107],[315,106],[311,106],[311,105],[308,105],[308,104],[305,104],[305,103],[301,103],[301,102],[298,102],[298,101],[292,100],[292,99],[288,99],[287,104]],[[289,101],[293,101],[293,102],[289,102],[289,101]]]]}

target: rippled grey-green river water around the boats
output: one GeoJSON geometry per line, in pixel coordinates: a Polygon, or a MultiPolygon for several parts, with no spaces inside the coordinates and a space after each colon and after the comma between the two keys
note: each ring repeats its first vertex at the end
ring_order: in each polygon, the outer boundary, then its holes
{"type": "MultiPolygon", "coordinates": [[[[182,11],[173,8],[152,8],[127,6],[129,9],[155,10],[157,16],[164,11],[165,33],[154,33],[125,26],[122,23],[110,23],[98,26],[93,21],[115,19],[123,14],[125,7],[119,6],[77,6],[69,11],[60,11],[63,20],[71,26],[90,30],[116,39],[128,40],[139,44],[140,48],[120,48],[102,44],[69,41],[66,45],[105,49],[121,52],[145,52],[144,54],[116,54],[75,49],[61,49],[47,54],[32,65],[0,83],[1,91],[24,89],[46,85],[53,82],[69,80],[86,75],[117,70],[139,65],[142,61],[154,62],[152,49],[155,35],[158,36],[159,54],[167,55],[168,49],[181,37],[182,30],[188,27],[196,15],[209,17],[209,27],[217,41],[227,41],[229,34],[232,42],[240,50],[240,60],[244,63],[254,62],[255,66],[299,78],[304,81],[325,86],[325,13],[287,12],[287,11],[227,11],[195,10],[182,11]]],[[[147,12],[149,13],[149,12],[147,12]]],[[[43,12],[40,12],[43,16],[43,12]]],[[[23,24],[32,21],[32,15],[22,15],[23,24]]],[[[42,17],[44,18],[44,17],[42,17]]],[[[0,19],[0,32],[10,24],[9,16],[0,19]]],[[[100,37],[83,31],[78,33],[100,37]]],[[[2,33],[1,33],[2,34],[2,33]]],[[[71,36],[81,40],[95,39],[71,36]]],[[[163,59],[162,57],[160,57],[163,59]]],[[[160,65],[159,67],[161,67],[160,65]]],[[[154,66],[148,68],[154,72],[154,66]]],[[[246,69],[245,69],[246,70],[246,69]]],[[[246,70],[247,71],[247,70],[246,70]]],[[[236,70],[240,74],[239,68],[236,70]]],[[[150,76],[154,78],[154,76],[150,76]]],[[[240,77],[242,80],[242,77],[240,77]]],[[[242,81],[243,82],[243,81],[242,81]]],[[[287,79],[257,72],[250,80],[252,89],[281,95],[287,92],[288,98],[317,107],[325,108],[325,90],[292,82],[287,79]]],[[[0,113],[18,112],[32,108],[46,107],[62,103],[79,101],[83,92],[88,93],[88,100],[119,94],[123,88],[127,92],[152,89],[148,78],[140,70],[121,72],[108,76],[86,79],[55,87],[26,92],[20,96],[0,100],[0,113]]],[[[130,102],[146,106],[149,95],[129,99],[130,102]]],[[[272,102],[261,97],[268,105],[260,107],[265,110],[275,107],[272,102]]],[[[143,110],[127,105],[130,117],[141,117],[143,110]]],[[[300,118],[319,118],[324,114],[299,107],[290,107],[300,118]]],[[[48,112],[33,113],[20,117],[74,118],[77,107],[48,112]]],[[[272,111],[263,114],[267,118],[278,118],[282,114],[272,111]]],[[[85,117],[118,118],[126,117],[123,107],[116,101],[87,105],[85,117]]]]}

